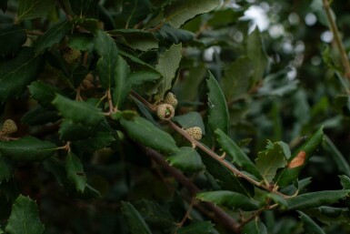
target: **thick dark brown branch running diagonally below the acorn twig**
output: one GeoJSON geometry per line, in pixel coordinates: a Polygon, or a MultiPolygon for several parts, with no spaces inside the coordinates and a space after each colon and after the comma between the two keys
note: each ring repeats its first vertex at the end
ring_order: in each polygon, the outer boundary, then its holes
{"type": "MultiPolygon", "coordinates": [[[[140,145],[140,147],[145,149],[147,156],[152,158],[157,164],[164,168],[170,175],[172,175],[178,182],[180,182],[185,188],[187,188],[191,194],[195,195],[201,190],[195,186],[195,184],[188,178],[186,178],[178,169],[171,167],[164,159],[164,157],[156,152],[152,148],[145,148],[140,145]]],[[[209,218],[214,219],[216,222],[222,224],[227,229],[233,230],[235,233],[239,233],[238,223],[235,219],[232,219],[229,215],[225,213],[223,209],[216,207],[213,203],[201,202],[199,204],[195,203],[195,207],[198,210],[205,211],[205,209],[210,210],[207,212],[209,218]],[[202,207],[203,206],[203,207],[202,207]]]]}

